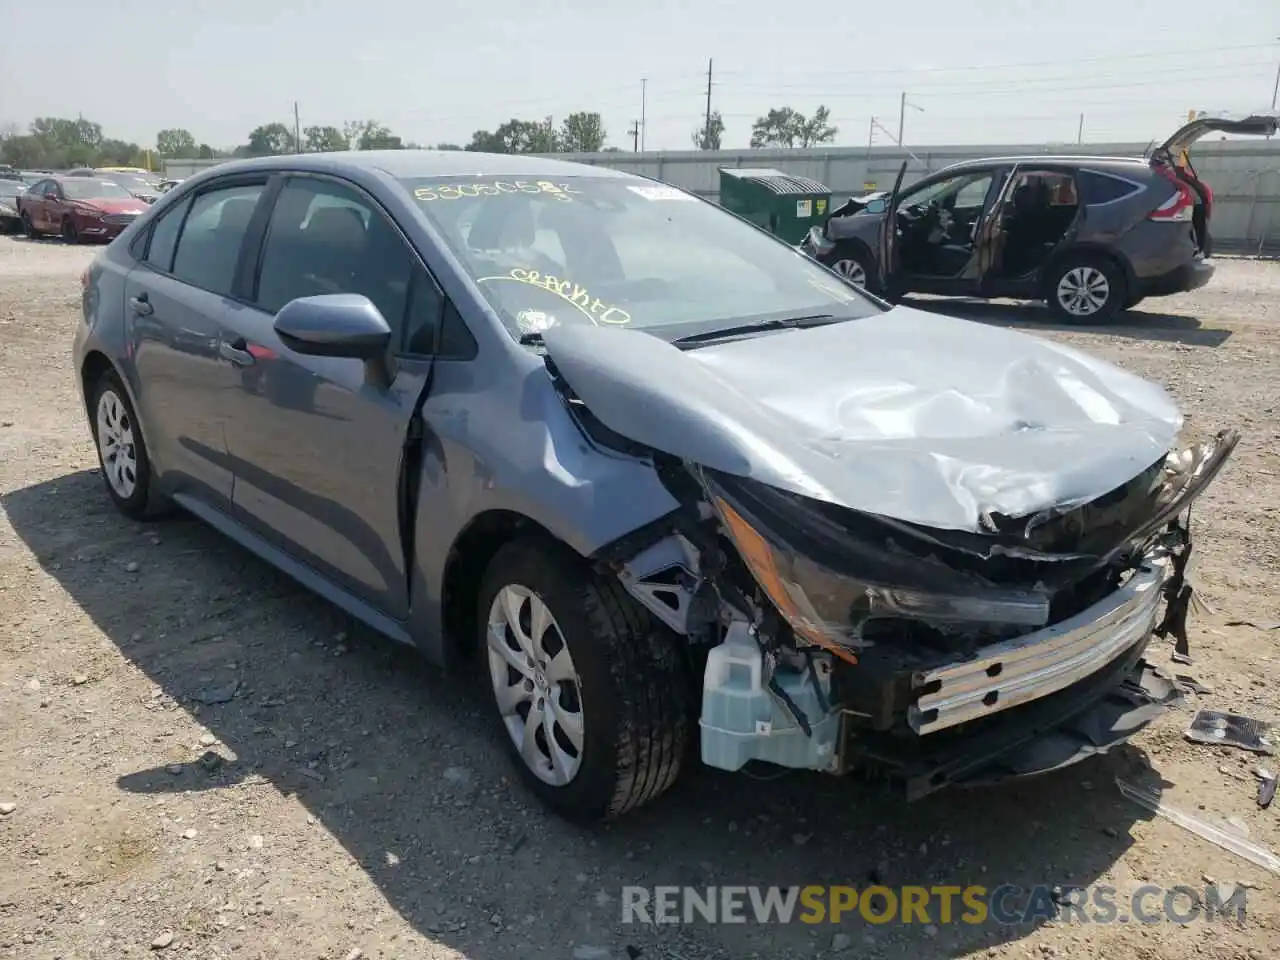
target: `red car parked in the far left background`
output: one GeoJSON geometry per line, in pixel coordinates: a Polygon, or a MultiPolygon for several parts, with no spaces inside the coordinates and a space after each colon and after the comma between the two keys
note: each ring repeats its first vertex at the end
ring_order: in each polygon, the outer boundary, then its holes
{"type": "Polygon", "coordinates": [[[18,218],[28,237],[59,234],[68,243],[114,239],[146,209],[120,184],[83,177],[49,177],[18,197],[18,218]]]}

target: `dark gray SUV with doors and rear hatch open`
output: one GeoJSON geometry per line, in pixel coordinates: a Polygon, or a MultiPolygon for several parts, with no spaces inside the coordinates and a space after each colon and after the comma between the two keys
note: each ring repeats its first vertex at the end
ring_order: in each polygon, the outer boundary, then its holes
{"type": "Polygon", "coordinates": [[[1144,297],[1208,283],[1213,195],[1190,146],[1212,132],[1272,136],[1276,114],[1201,116],[1147,157],[969,160],[845,204],[800,248],[883,296],[1044,300],[1105,323],[1144,297]],[[883,225],[895,220],[896,230],[883,225]]]}

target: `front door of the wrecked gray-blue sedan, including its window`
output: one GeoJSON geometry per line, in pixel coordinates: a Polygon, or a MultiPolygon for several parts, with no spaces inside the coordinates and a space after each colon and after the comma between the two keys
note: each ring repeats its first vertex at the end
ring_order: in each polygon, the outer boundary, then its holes
{"type": "Polygon", "coordinates": [[[344,180],[293,175],[261,243],[255,307],[238,314],[232,364],[243,371],[228,421],[236,517],[330,582],[403,621],[408,616],[401,470],[431,374],[421,330],[444,298],[398,227],[344,180]],[[389,383],[364,361],[302,356],[276,335],[298,297],[361,293],[399,346],[389,383]],[[411,347],[413,347],[411,349],[411,347]]]}

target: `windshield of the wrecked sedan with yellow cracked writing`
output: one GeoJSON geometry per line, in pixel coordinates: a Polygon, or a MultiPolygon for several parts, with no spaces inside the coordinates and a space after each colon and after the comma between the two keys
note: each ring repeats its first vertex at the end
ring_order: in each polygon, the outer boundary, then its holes
{"type": "Polygon", "coordinates": [[[673,338],[774,317],[852,319],[881,310],[799,251],[657,183],[403,183],[516,337],[580,323],[673,338]]]}

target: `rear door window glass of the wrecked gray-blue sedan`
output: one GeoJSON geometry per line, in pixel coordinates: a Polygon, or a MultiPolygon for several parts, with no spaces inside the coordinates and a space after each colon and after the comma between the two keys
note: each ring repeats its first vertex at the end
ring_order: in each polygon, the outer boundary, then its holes
{"type": "Polygon", "coordinates": [[[241,184],[201,193],[178,238],[173,275],[210,293],[230,296],[236,264],[265,184],[241,184]]]}

